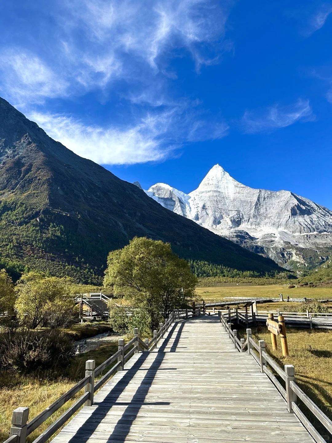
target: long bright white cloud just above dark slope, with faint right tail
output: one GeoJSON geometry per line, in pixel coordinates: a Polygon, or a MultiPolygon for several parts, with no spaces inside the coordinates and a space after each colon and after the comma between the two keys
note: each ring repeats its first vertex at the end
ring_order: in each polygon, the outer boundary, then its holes
{"type": "Polygon", "coordinates": [[[135,164],[165,159],[188,141],[217,139],[227,125],[198,120],[185,105],[150,113],[132,126],[89,126],[74,117],[32,112],[28,115],[54,140],[100,164],[135,164]]]}

